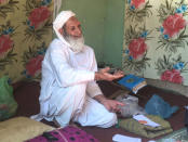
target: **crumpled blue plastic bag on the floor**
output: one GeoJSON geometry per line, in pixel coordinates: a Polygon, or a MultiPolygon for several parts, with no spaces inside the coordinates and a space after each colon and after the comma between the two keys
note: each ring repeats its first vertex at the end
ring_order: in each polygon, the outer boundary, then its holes
{"type": "Polygon", "coordinates": [[[152,98],[145,105],[145,111],[149,115],[159,115],[162,118],[169,118],[173,113],[178,109],[177,106],[172,106],[166,103],[162,98],[153,94],[152,98]]]}

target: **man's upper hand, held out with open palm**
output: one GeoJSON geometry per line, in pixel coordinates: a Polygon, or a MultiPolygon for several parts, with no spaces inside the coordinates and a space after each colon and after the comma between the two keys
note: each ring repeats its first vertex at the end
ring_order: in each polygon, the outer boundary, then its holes
{"type": "Polygon", "coordinates": [[[124,76],[123,72],[118,70],[115,74],[109,74],[109,67],[103,68],[99,72],[95,73],[95,80],[107,80],[112,81],[115,79],[121,78],[124,76]]]}

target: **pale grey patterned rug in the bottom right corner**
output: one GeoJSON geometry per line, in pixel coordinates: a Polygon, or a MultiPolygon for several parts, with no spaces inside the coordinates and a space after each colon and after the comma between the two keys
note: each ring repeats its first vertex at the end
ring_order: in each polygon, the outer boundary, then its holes
{"type": "Polygon", "coordinates": [[[188,142],[188,133],[186,128],[174,131],[156,142],[188,142]]]}

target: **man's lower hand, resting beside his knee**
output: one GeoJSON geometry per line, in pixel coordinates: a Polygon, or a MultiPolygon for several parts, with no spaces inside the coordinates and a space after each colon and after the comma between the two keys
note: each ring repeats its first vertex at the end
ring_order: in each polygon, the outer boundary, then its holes
{"type": "Polygon", "coordinates": [[[125,104],[116,100],[106,99],[103,94],[94,96],[99,103],[102,103],[109,112],[120,112],[119,105],[124,106],[125,104]]]}

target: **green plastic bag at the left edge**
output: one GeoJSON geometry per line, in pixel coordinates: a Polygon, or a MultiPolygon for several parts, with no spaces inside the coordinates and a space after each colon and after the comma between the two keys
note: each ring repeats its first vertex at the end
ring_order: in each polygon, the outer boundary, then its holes
{"type": "Polygon", "coordinates": [[[8,76],[0,78],[0,120],[13,116],[17,109],[17,103],[13,98],[13,88],[8,83],[8,76]]]}

